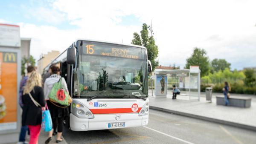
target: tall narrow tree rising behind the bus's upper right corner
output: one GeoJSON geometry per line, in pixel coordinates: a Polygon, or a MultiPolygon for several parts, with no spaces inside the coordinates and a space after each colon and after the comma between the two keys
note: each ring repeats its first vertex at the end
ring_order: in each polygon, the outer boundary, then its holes
{"type": "Polygon", "coordinates": [[[148,52],[148,60],[151,61],[152,70],[154,71],[155,67],[159,65],[158,57],[158,46],[155,44],[154,37],[148,37],[148,25],[143,23],[142,30],[140,35],[134,32],[134,38],[131,41],[131,44],[136,44],[140,46],[145,46],[148,52]],[[141,38],[140,38],[141,35],[141,38]]]}

